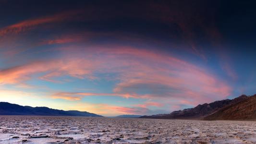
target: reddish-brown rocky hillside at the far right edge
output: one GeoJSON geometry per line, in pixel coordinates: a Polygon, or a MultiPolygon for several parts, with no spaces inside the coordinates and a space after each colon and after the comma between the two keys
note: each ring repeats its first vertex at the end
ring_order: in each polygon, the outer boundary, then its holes
{"type": "Polygon", "coordinates": [[[221,108],[216,113],[204,118],[204,120],[256,120],[256,95],[221,108]]]}

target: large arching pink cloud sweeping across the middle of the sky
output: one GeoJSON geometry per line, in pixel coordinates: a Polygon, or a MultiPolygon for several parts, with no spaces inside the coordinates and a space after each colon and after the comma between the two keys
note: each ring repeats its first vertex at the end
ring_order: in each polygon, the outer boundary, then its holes
{"type": "Polygon", "coordinates": [[[1,70],[0,84],[23,83],[30,80],[31,75],[42,72],[44,75],[39,78],[50,82],[55,82],[54,77],[64,75],[94,80],[100,79],[95,77],[96,72],[114,73],[116,76],[113,80],[119,82],[113,87],[113,93],[58,93],[52,97],[63,96],[63,99],[69,99],[65,97],[121,96],[175,101],[188,99],[194,105],[226,98],[232,91],[229,85],[206,69],[161,52],[119,46],[59,50],[68,57],[1,70]],[[72,56],[71,52],[75,54],[72,56]],[[79,54],[83,54],[82,57],[79,54]],[[140,91],[147,93],[140,95],[140,91]]]}

